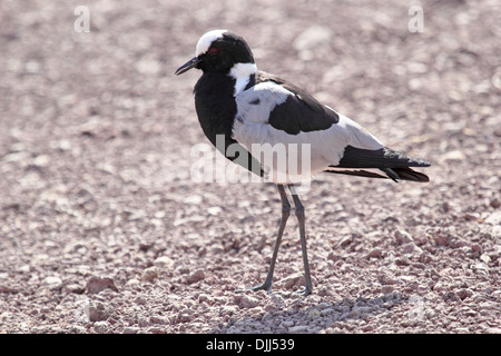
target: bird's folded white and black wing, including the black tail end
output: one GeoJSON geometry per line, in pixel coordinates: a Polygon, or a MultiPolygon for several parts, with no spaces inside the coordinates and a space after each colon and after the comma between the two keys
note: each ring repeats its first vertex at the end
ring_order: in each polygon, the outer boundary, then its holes
{"type": "Polygon", "coordinates": [[[429,162],[386,148],[353,120],[275,76],[259,72],[236,101],[233,137],[247,149],[252,144],[308,144],[312,172],[428,181],[410,167],[428,167],[429,162]],[[361,170],[365,168],[385,175],[361,170]]]}

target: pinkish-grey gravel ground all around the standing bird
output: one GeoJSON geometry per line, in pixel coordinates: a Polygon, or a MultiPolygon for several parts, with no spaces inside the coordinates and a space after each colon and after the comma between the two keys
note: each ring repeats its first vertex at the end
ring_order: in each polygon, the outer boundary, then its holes
{"type": "Polygon", "coordinates": [[[479,1],[0,2],[0,333],[501,333],[501,6],[479,1]],[[410,32],[421,4],[424,31],[410,32]],[[320,175],[274,291],[273,185],[195,182],[175,77],[243,34],[430,184],[320,175]]]}

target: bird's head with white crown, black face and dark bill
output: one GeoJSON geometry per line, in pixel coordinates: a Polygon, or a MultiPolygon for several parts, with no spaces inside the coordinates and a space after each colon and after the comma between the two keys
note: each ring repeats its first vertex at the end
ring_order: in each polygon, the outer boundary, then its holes
{"type": "Polygon", "coordinates": [[[247,42],[228,30],[213,30],[198,40],[195,57],[176,70],[176,76],[191,68],[204,72],[228,73],[237,63],[254,63],[247,42]]]}

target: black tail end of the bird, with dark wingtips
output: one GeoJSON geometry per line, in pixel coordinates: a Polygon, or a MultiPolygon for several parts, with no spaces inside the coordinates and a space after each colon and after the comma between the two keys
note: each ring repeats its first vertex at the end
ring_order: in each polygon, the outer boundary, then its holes
{"type": "Polygon", "coordinates": [[[341,175],[352,175],[369,178],[390,178],[394,181],[430,181],[430,178],[410,167],[430,167],[430,162],[406,156],[405,154],[391,150],[386,147],[377,150],[360,149],[347,146],[343,158],[337,166],[330,166],[332,169],[325,171],[341,175]],[[336,168],[376,168],[386,176],[367,170],[337,170],[336,168]]]}

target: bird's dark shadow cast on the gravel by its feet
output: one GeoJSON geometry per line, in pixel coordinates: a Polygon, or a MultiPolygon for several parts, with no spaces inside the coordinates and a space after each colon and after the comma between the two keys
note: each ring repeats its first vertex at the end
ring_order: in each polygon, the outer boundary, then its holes
{"type": "MultiPolygon", "coordinates": [[[[271,312],[257,316],[232,318],[225,324],[209,330],[209,334],[284,334],[307,333],[317,334],[327,328],[335,333],[352,333],[354,320],[369,320],[382,313],[391,313],[394,306],[410,303],[401,293],[389,293],[365,298],[344,298],[340,301],[320,301],[315,305],[303,303],[297,297],[292,305],[284,298],[271,294],[274,304],[271,312]],[[286,306],[286,304],[288,306],[286,306]]],[[[411,310],[412,312],[412,310],[411,310]]],[[[412,322],[413,316],[409,315],[412,322]]],[[[363,328],[357,332],[365,332],[363,328]]],[[[370,328],[366,329],[370,332],[370,328]]]]}

